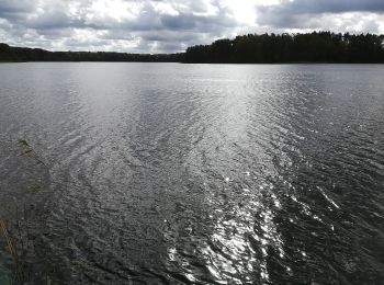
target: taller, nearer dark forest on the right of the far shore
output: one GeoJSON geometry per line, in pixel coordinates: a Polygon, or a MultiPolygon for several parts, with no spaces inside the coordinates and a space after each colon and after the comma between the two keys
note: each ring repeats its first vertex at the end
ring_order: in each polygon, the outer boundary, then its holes
{"type": "Polygon", "coordinates": [[[249,34],[187,49],[185,62],[384,62],[384,35],[249,34]]]}

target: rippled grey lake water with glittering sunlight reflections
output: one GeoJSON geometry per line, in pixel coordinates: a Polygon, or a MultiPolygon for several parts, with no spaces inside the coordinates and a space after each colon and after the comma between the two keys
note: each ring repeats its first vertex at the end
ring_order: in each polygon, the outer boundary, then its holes
{"type": "MultiPolygon", "coordinates": [[[[24,280],[383,284],[383,79],[375,65],[0,65],[0,214],[24,280]]],[[[2,236],[0,258],[4,276],[2,236]]]]}

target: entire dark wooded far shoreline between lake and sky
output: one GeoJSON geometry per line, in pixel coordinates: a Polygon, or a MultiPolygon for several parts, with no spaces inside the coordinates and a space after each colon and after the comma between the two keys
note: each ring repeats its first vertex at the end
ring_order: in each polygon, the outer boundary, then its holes
{"type": "Polygon", "coordinates": [[[181,64],[384,64],[384,35],[248,34],[196,45],[184,53],[127,54],[113,52],[49,52],[0,43],[0,62],[121,61],[181,64]]]}

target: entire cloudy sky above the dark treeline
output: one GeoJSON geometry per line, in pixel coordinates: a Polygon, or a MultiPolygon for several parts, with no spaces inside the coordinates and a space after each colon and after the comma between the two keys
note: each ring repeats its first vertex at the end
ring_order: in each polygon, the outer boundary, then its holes
{"type": "Polygon", "coordinates": [[[0,42],[169,53],[246,33],[384,34],[384,0],[0,0],[0,42]]]}

